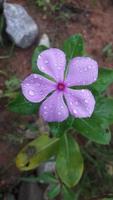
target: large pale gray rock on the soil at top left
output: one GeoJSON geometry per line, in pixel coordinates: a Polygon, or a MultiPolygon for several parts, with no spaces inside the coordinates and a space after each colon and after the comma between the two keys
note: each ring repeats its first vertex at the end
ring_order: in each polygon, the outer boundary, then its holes
{"type": "Polygon", "coordinates": [[[18,4],[4,3],[6,32],[19,47],[29,47],[38,35],[38,26],[18,4]]]}

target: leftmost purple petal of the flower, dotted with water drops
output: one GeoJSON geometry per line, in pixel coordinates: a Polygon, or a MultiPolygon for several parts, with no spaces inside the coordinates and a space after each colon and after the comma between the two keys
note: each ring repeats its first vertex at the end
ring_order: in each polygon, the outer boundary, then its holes
{"type": "Polygon", "coordinates": [[[55,90],[55,83],[46,78],[31,74],[21,84],[25,98],[31,102],[42,101],[50,92],[55,90]]]}

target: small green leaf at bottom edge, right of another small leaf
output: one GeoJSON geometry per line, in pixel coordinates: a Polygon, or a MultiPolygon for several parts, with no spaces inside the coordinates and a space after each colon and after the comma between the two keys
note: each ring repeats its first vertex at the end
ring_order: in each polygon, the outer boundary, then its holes
{"type": "Polygon", "coordinates": [[[75,193],[65,185],[62,187],[62,196],[64,200],[75,200],[75,193]]]}

